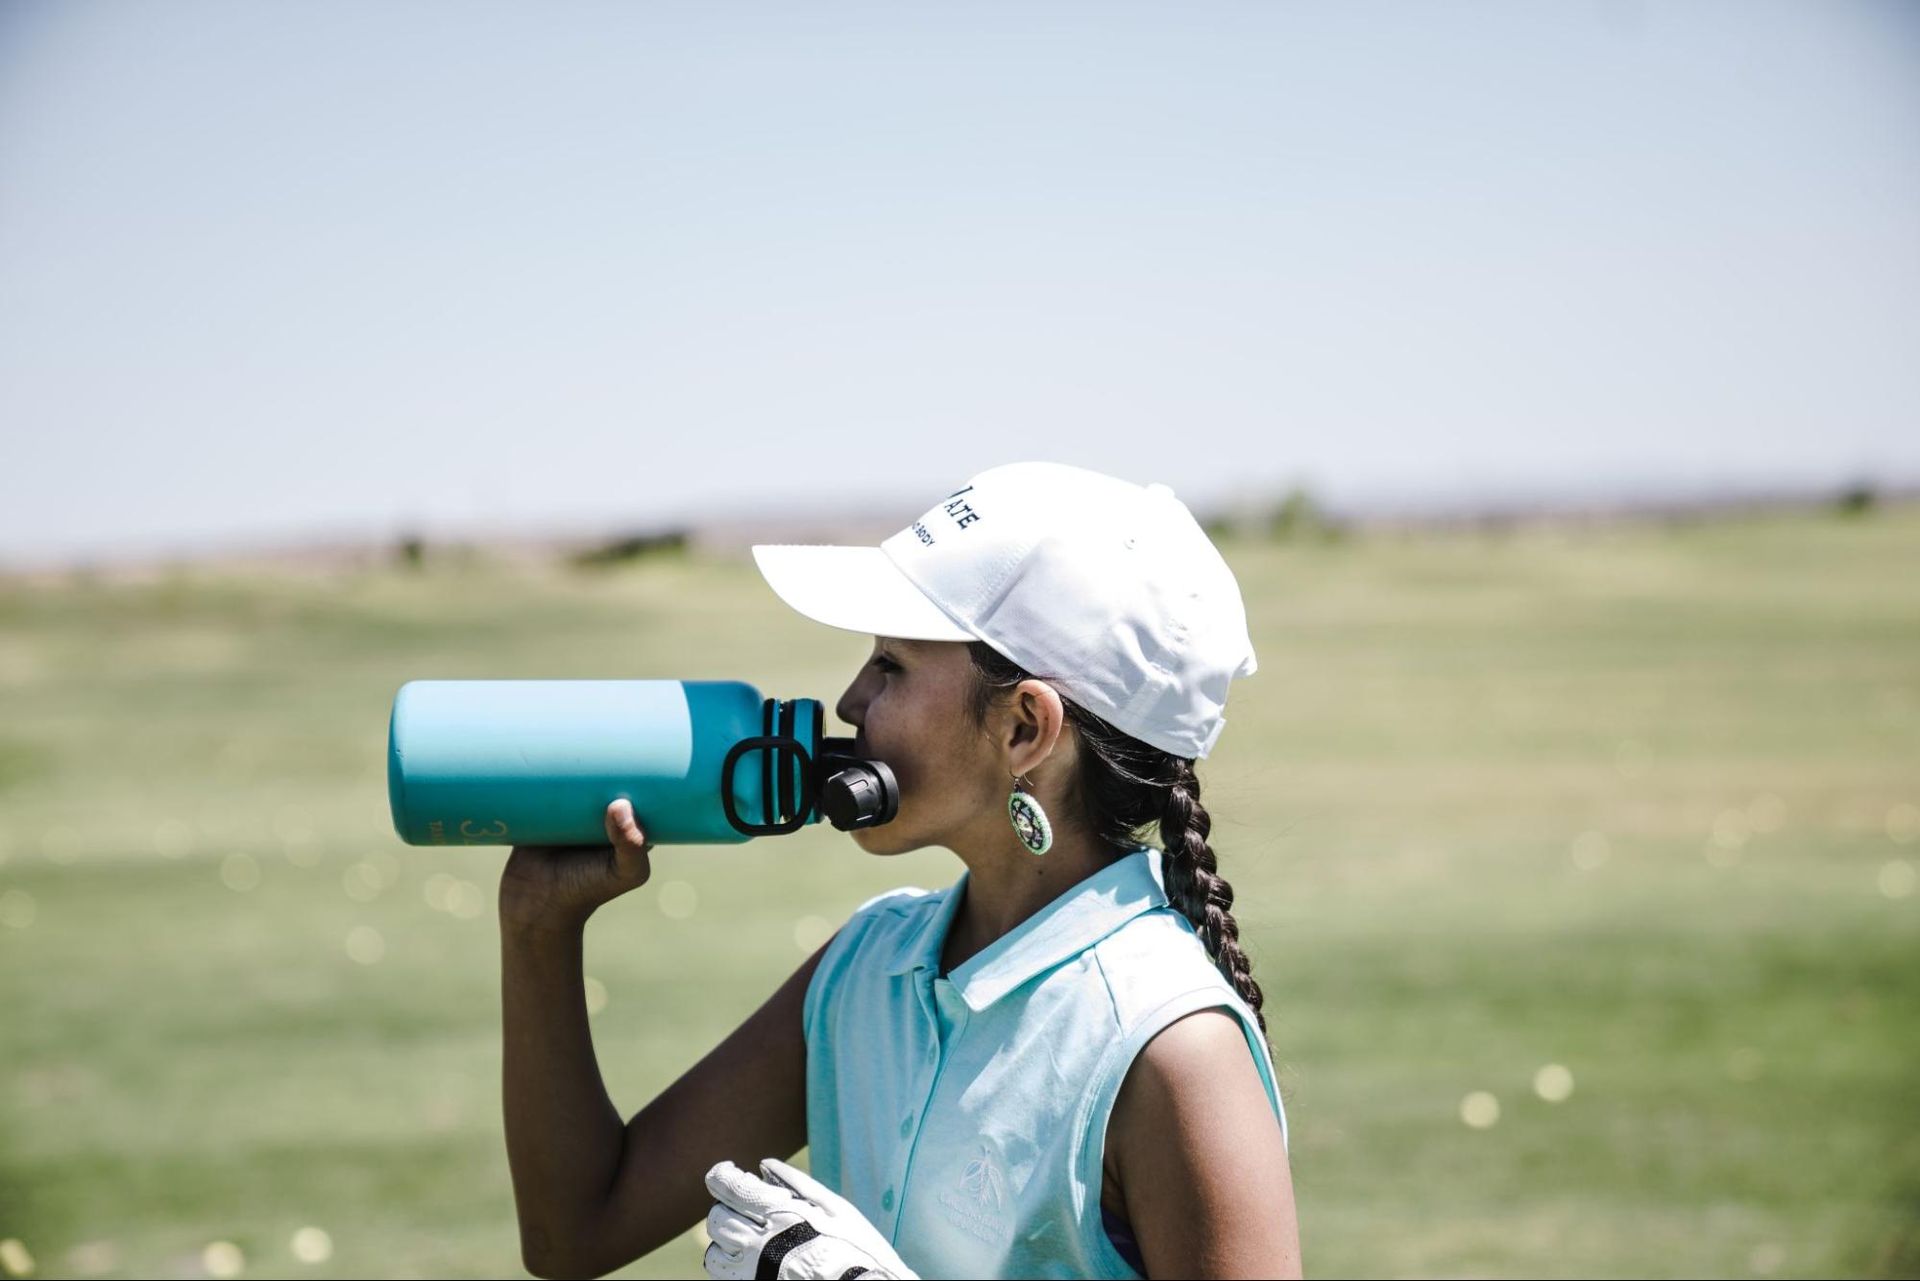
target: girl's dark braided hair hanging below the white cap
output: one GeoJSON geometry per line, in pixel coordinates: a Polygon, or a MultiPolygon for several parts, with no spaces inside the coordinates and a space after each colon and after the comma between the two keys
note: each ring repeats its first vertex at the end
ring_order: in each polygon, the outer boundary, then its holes
{"type": "MultiPolygon", "coordinates": [[[[975,676],[968,711],[975,726],[985,726],[993,703],[1035,676],[985,641],[968,641],[968,657],[975,676]]],[[[1206,839],[1213,818],[1200,805],[1192,761],[1121,734],[1066,695],[1060,703],[1081,745],[1079,770],[1068,786],[1069,805],[1106,845],[1139,845],[1140,834],[1158,824],[1167,901],[1192,922],[1208,956],[1252,1006],[1265,1033],[1260,983],[1240,951],[1240,926],[1233,920],[1233,885],[1219,874],[1219,860],[1206,839]]]]}

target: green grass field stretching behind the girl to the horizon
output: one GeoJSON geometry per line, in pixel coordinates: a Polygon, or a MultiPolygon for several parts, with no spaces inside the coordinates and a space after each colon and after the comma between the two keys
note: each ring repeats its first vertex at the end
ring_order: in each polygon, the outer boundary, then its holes
{"type": "MultiPolygon", "coordinates": [[[[1223,551],[1261,670],[1202,780],[1308,1271],[1920,1273],[1920,509],[1223,551]]],[[[520,1275],[505,851],[394,837],[394,691],[831,707],[864,657],[674,555],[0,584],[0,1268],[520,1275]]],[[[659,851],[588,933],[622,1112],[956,874],[659,851]]]]}

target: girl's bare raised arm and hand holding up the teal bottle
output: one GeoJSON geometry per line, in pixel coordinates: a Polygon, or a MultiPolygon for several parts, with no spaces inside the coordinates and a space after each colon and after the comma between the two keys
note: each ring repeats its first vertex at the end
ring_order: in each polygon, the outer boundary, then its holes
{"type": "Polygon", "coordinates": [[[624,801],[607,834],[607,847],[518,847],[501,878],[507,1162],[520,1256],[540,1277],[634,1262],[701,1221],[714,1162],[806,1143],[801,1003],[820,953],[622,1125],[593,1056],[580,953],[593,908],[645,883],[651,862],[624,801]]]}

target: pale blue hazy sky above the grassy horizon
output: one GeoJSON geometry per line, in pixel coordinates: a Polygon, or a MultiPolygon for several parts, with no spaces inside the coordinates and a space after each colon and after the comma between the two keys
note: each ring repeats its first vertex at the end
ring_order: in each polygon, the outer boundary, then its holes
{"type": "Polygon", "coordinates": [[[1920,6],[0,0],[0,563],[1920,480],[1920,6]]]}

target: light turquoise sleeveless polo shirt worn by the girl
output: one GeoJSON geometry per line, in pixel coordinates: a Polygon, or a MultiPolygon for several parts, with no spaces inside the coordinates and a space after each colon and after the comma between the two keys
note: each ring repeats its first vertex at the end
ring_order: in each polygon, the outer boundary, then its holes
{"type": "Polygon", "coordinates": [[[1154,1033],[1225,1006],[1284,1143],[1254,1012],[1167,905],[1152,847],[941,978],[966,880],[864,903],[820,958],[803,1006],[812,1173],[922,1277],[1139,1277],[1100,1216],[1119,1085],[1154,1033]]]}

